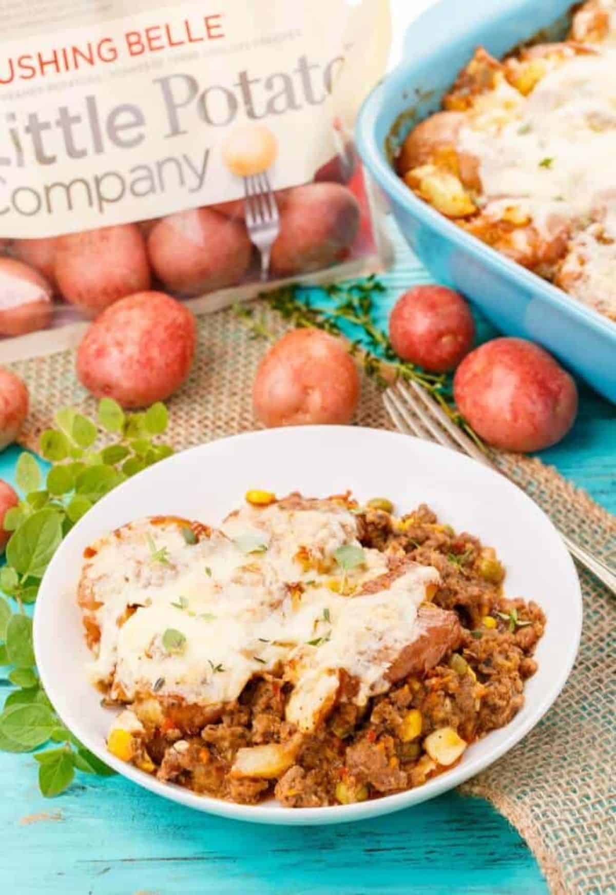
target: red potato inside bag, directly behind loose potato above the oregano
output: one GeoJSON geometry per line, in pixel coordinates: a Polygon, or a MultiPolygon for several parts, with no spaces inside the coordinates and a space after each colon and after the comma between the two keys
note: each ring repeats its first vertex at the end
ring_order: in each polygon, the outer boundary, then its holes
{"type": "Polygon", "coordinates": [[[60,236],[56,282],[67,302],[90,317],[150,288],[145,240],[137,224],[60,236]]]}

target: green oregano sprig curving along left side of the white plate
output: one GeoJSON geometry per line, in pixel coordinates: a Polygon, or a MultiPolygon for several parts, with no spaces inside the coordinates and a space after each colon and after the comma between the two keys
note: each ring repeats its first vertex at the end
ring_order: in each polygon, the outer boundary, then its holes
{"type": "Polygon", "coordinates": [[[0,597],[0,667],[15,687],[0,713],[0,750],[31,752],[50,740],[61,744],[34,756],[39,787],[47,797],[63,792],[75,771],[102,776],[115,771],[64,727],[47,698],[24,604],[36,600],[49,562],[81,516],[128,477],[173,453],[158,440],[168,422],[161,403],[142,413],[124,413],[115,401],[103,398],[96,421],[64,407],[54,422],[40,437],[40,453],[51,464],[45,480],[34,456],[24,452],[17,461],[21,499],[4,516],[4,528],[12,535],[0,569],[0,590],[17,604],[13,611],[0,597]]]}

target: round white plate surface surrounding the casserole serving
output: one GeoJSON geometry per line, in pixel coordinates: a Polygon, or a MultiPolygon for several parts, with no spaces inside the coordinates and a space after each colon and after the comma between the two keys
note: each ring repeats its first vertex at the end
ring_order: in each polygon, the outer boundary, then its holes
{"type": "Polygon", "coordinates": [[[502,476],[466,456],[405,435],[310,426],[250,432],[194,447],[107,495],[73,528],[48,567],[37,601],[34,641],[40,677],[64,723],[130,780],[184,805],[245,821],[339,823],[438,796],[518,743],[564,686],[581,623],[581,594],[569,553],[547,516],[502,476]],[[522,711],[506,728],[470,746],[457,767],[423,787],[356,805],[289,809],[273,800],[235,805],[161,783],[107,753],[111,712],[101,708],[100,695],[83,673],[89,652],[74,599],[83,549],[141,516],[171,514],[218,524],[241,505],[249,488],[323,497],[350,489],[359,499],[389,497],[401,512],[425,502],[442,522],[495,547],[507,567],[507,594],[535,600],[548,618],[536,652],[539,669],[526,685],[522,711]]]}

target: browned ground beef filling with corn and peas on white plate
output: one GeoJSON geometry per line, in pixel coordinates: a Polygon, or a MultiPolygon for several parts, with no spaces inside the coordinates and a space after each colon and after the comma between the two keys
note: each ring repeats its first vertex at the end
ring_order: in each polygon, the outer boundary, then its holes
{"type": "Polygon", "coordinates": [[[288,807],[348,804],[421,786],[448,770],[455,761],[435,761],[426,746],[435,731],[453,730],[468,744],[519,711],[545,618],[535,603],[502,596],[504,572],[494,551],[439,524],[424,506],[401,520],[368,511],[360,531],[365,547],[439,570],[432,602],[456,612],[458,648],[434,655],[431,667],[364,708],[339,703],[310,735],[300,736],[285,720],[290,686],[272,675],[252,680],[237,703],[218,712],[172,700],[152,715],[137,701],[143,754],[160,780],[244,804],[273,795],[288,807]],[[234,779],[237,751],[270,743],[293,745],[290,767],[274,780],[234,779]]]}

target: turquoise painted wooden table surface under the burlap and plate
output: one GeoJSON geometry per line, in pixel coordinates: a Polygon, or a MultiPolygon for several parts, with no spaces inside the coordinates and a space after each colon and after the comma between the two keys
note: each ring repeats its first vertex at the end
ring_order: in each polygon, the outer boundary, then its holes
{"type": "MultiPolygon", "coordinates": [[[[402,250],[386,277],[383,321],[400,289],[423,276],[402,250]]],[[[542,458],[616,513],[614,443],[616,408],[583,389],[575,429],[542,458]]],[[[0,455],[0,477],[12,480],[18,455],[16,447],[0,455]]],[[[9,686],[0,679],[0,700],[9,686]]],[[[457,793],[366,823],[291,829],[199,814],[121,777],[79,775],[64,795],[46,799],[37,771],[30,755],[0,753],[3,880],[11,895],[547,891],[509,823],[457,793]]]]}

